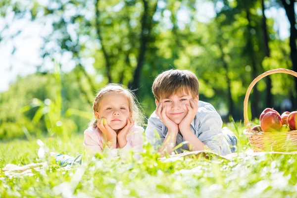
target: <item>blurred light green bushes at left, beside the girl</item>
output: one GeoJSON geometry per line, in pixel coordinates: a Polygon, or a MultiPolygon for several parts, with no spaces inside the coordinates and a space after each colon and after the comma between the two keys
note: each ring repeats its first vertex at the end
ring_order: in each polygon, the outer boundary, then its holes
{"type": "Polygon", "coordinates": [[[28,138],[82,133],[90,121],[91,104],[73,82],[72,74],[34,74],[19,78],[0,93],[0,138],[28,138]],[[63,88],[62,88],[63,86],[63,88]]]}

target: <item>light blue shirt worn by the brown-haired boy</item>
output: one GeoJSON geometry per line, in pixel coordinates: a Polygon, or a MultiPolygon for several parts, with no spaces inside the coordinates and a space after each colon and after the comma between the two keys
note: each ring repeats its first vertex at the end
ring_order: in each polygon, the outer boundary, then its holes
{"type": "MultiPolygon", "coordinates": [[[[198,111],[190,126],[191,130],[198,139],[213,152],[227,155],[231,153],[231,150],[222,134],[222,125],[222,118],[215,108],[210,103],[199,100],[198,111]]],[[[154,111],[148,118],[148,126],[146,129],[148,142],[156,148],[163,143],[167,133],[167,127],[154,111]]],[[[184,141],[184,138],[180,134],[177,134],[176,146],[184,141]]],[[[189,150],[189,147],[187,144],[184,144],[176,150],[178,153],[181,153],[183,150],[189,150]]]]}

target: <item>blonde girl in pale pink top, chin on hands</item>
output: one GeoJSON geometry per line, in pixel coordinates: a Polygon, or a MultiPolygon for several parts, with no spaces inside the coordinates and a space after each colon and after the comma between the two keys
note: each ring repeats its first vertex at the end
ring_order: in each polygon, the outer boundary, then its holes
{"type": "MultiPolygon", "coordinates": [[[[134,94],[119,84],[103,87],[93,103],[96,119],[84,132],[84,146],[92,153],[115,148],[142,151],[144,115],[137,105],[134,94]]],[[[111,151],[113,150],[113,151],[111,151]]]]}

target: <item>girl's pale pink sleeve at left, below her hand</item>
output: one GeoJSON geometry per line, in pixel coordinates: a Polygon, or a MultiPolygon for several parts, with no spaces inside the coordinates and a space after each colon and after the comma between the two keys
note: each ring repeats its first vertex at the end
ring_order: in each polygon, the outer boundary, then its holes
{"type": "Polygon", "coordinates": [[[102,150],[102,142],[99,140],[96,131],[87,129],[84,132],[84,146],[87,151],[92,153],[100,152],[102,150]]]}

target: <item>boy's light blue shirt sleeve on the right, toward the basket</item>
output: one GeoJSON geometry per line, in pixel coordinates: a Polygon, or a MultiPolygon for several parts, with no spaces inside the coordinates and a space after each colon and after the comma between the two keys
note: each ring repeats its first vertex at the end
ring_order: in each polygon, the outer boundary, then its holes
{"type": "Polygon", "coordinates": [[[198,138],[213,152],[227,155],[231,150],[222,134],[222,125],[221,116],[216,111],[208,111],[200,120],[198,138]]]}

